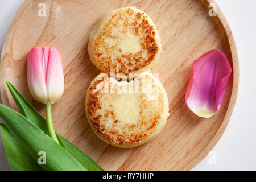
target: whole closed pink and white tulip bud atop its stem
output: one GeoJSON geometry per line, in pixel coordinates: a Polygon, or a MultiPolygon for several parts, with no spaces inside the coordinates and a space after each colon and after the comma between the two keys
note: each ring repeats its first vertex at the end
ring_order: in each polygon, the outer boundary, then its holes
{"type": "Polygon", "coordinates": [[[32,96],[43,104],[57,102],[64,91],[60,53],[55,47],[35,47],[27,57],[27,82],[32,96]]]}

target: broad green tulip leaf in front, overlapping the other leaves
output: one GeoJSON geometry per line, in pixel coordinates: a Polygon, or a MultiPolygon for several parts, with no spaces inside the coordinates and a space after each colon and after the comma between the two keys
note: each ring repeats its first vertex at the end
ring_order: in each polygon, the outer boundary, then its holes
{"type": "Polygon", "coordinates": [[[0,118],[35,162],[39,163],[40,154],[45,155],[46,163],[40,165],[44,170],[86,170],[63,147],[44,134],[43,130],[15,110],[0,104],[0,118]]]}

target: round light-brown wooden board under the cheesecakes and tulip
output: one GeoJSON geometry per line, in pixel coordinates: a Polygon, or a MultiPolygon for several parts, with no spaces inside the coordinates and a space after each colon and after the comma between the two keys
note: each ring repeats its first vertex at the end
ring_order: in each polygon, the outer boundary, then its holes
{"type": "MultiPolygon", "coordinates": [[[[199,163],[220,139],[229,122],[237,97],[238,57],[232,32],[221,10],[209,16],[207,0],[159,1],[43,1],[27,0],[20,7],[6,35],[0,62],[3,104],[17,109],[7,89],[8,80],[44,114],[27,86],[27,54],[35,46],[55,46],[64,67],[65,90],[53,105],[55,129],[104,169],[184,170],[199,163]],[[39,3],[46,16],[38,16],[39,3]],[[152,69],[166,89],[170,118],[162,133],[136,148],[117,148],[96,137],[86,121],[84,98],[90,81],[100,73],[90,62],[88,38],[98,18],[106,11],[133,5],[154,20],[163,43],[158,65],[152,69]],[[232,75],[221,110],[205,119],[193,114],[184,101],[192,63],[210,49],[228,57],[232,75]]],[[[210,12],[212,13],[212,11],[210,12]]]]}

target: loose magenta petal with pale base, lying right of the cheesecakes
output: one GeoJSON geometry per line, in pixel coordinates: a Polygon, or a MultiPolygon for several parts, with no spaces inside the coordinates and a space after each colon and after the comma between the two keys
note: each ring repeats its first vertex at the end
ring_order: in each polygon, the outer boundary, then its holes
{"type": "Polygon", "coordinates": [[[226,56],[214,49],[193,63],[185,101],[199,117],[209,118],[220,110],[231,73],[226,56]]]}

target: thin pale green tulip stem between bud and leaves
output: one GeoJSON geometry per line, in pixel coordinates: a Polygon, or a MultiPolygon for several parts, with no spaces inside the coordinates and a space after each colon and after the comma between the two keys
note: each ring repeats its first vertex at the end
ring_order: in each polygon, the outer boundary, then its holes
{"type": "Polygon", "coordinates": [[[57,143],[59,143],[59,140],[57,139],[56,133],[54,131],[53,123],[52,123],[52,104],[51,103],[46,104],[46,123],[49,131],[49,136],[53,140],[55,140],[57,143]]]}

